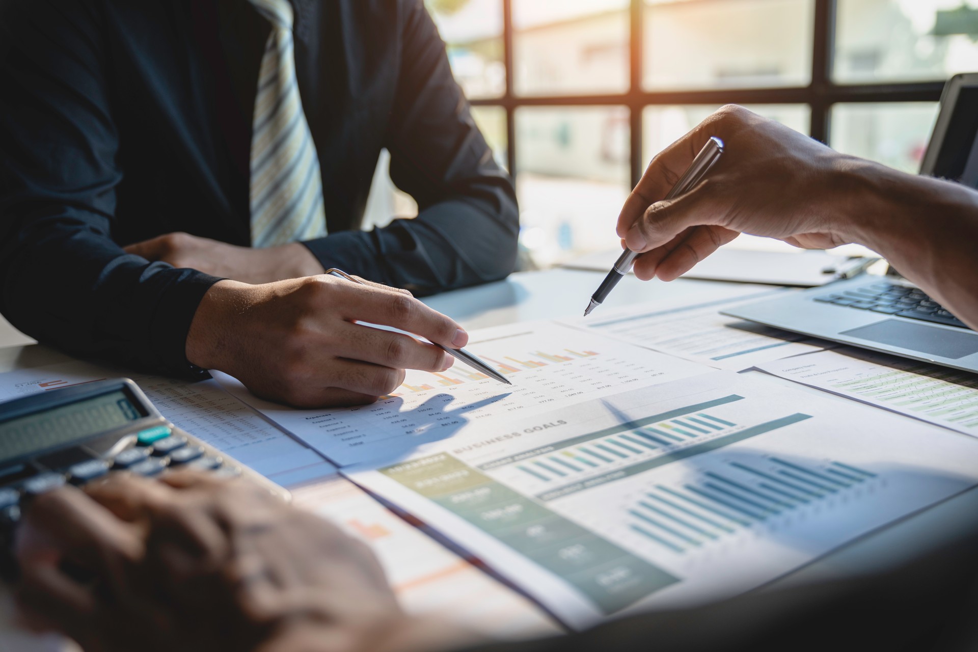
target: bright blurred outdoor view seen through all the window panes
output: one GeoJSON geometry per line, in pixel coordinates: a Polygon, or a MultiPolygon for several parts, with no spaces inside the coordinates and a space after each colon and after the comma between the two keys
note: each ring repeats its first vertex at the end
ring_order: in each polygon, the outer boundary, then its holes
{"type": "MultiPolygon", "coordinates": [[[[427,0],[470,99],[506,89],[501,0],[427,0]]],[[[804,87],[811,81],[814,0],[645,0],[643,90],[804,87]]],[[[628,0],[512,0],[512,85],[517,97],[615,95],[629,85],[628,0]]],[[[978,70],[978,0],[837,0],[833,80],[866,84],[943,80],[978,70]]],[[[750,106],[808,133],[807,105],[750,106]]],[[[647,163],[717,106],[649,106],[647,163]]],[[[502,165],[506,112],[473,108],[502,165]]],[[[840,104],[830,145],[916,172],[936,103],[840,104]]],[[[617,246],[629,192],[629,109],[533,106],[514,110],[520,243],[554,265],[617,246]]],[[[378,164],[371,225],[417,206],[378,164]]]]}

